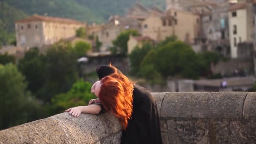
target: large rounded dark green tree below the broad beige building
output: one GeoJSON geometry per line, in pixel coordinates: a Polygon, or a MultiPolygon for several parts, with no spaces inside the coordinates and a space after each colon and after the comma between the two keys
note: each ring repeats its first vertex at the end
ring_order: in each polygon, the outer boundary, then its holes
{"type": "Polygon", "coordinates": [[[141,67],[150,66],[163,77],[182,75],[186,78],[198,78],[200,65],[192,48],[181,41],[170,42],[163,47],[147,53],[141,62],[141,67]]]}

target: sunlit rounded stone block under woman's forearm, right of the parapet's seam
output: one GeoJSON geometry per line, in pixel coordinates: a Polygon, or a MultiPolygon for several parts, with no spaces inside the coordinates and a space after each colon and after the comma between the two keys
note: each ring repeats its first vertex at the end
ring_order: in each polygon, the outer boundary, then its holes
{"type": "Polygon", "coordinates": [[[104,115],[81,114],[77,118],[72,117],[66,112],[54,115],[51,118],[63,123],[72,133],[75,142],[78,144],[93,143],[114,133],[104,115]]]}

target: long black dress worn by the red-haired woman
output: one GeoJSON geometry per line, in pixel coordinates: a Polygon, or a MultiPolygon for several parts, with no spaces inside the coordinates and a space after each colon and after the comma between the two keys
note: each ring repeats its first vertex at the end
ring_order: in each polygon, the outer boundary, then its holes
{"type": "MultiPolygon", "coordinates": [[[[104,77],[102,73],[109,75],[108,68],[104,66],[97,68],[99,79],[104,77]]],[[[101,106],[102,112],[104,108],[101,106]]],[[[155,99],[146,88],[136,84],[133,90],[133,113],[127,129],[122,131],[121,144],[162,144],[155,99]]]]}

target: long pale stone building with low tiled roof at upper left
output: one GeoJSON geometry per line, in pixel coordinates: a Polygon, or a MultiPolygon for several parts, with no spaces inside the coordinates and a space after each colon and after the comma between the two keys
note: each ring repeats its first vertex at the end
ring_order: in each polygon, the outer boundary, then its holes
{"type": "Polygon", "coordinates": [[[42,47],[61,39],[75,37],[76,29],[85,23],[50,16],[30,16],[15,22],[17,47],[42,47]]]}

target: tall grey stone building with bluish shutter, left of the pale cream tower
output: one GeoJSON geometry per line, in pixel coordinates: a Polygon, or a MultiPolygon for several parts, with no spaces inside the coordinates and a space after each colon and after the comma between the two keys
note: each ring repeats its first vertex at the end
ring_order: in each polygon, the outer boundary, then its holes
{"type": "Polygon", "coordinates": [[[219,3],[208,12],[201,14],[202,38],[207,44],[205,50],[216,51],[229,56],[229,2],[219,3]]]}

